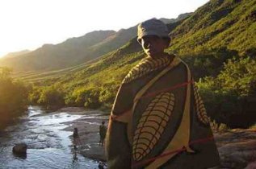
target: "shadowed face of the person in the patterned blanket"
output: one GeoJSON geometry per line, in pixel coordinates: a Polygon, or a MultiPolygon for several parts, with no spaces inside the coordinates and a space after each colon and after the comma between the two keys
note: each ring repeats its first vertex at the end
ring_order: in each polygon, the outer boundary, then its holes
{"type": "Polygon", "coordinates": [[[153,59],[161,57],[168,46],[166,40],[156,35],[146,35],[141,39],[141,46],[144,52],[153,59]]]}

